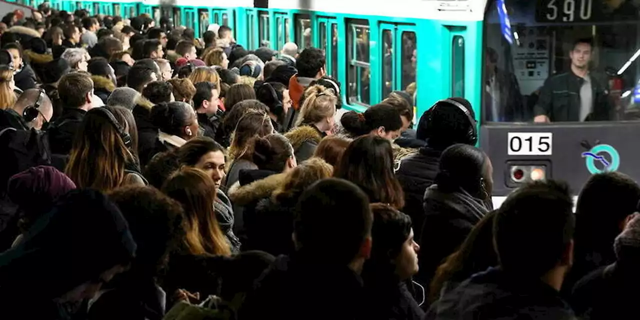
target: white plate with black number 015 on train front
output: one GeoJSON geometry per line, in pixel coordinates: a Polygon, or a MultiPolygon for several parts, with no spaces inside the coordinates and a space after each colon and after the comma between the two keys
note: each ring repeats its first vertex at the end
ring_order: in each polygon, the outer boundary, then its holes
{"type": "Polygon", "coordinates": [[[507,143],[509,156],[551,156],[553,134],[551,132],[509,132],[507,143]]]}

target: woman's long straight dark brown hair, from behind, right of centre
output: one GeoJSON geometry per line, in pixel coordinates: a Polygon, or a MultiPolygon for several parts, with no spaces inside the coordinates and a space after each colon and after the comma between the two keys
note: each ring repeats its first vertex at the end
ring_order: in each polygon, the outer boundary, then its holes
{"type": "Polygon", "coordinates": [[[391,143],[369,134],[349,143],[333,177],[357,184],[369,196],[369,202],[404,207],[404,193],[394,174],[391,143]]]}

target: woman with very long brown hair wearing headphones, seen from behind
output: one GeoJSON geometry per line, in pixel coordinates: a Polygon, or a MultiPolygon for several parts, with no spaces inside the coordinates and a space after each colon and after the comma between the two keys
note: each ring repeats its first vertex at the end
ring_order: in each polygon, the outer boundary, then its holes
{"type": "Polygon", "coordinates": [[[128,184],[145,186],[131,150],[127,121],[114,107],[93,108],[76,132],[67,176],[78,188],[107,193],[128,184]]]}

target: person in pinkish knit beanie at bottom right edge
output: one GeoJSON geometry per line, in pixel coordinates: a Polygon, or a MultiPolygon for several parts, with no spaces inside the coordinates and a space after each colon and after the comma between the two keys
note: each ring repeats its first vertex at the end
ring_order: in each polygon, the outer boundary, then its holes
{"type": "Polygon", "coordinates": [[[569,300],[579,319],[629,319],[636,313],[640,285],[640,214],[628,216],[614,241],[616,262],[596,269],[575,284],[569,300]]]}

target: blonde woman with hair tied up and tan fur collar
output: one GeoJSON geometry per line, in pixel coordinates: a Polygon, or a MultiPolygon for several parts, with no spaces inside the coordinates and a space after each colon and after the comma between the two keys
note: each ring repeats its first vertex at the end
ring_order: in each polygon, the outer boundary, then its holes
{"type": "Polygon", "coordinates": [[[305,91],[305,102],[296,114],[296,127],[285,136],[291,140],[299,163],[312,157],[318,143],[335,124],[335,104],[337,97],[333,90],[324,86],[310,86],[305,91]]]}

